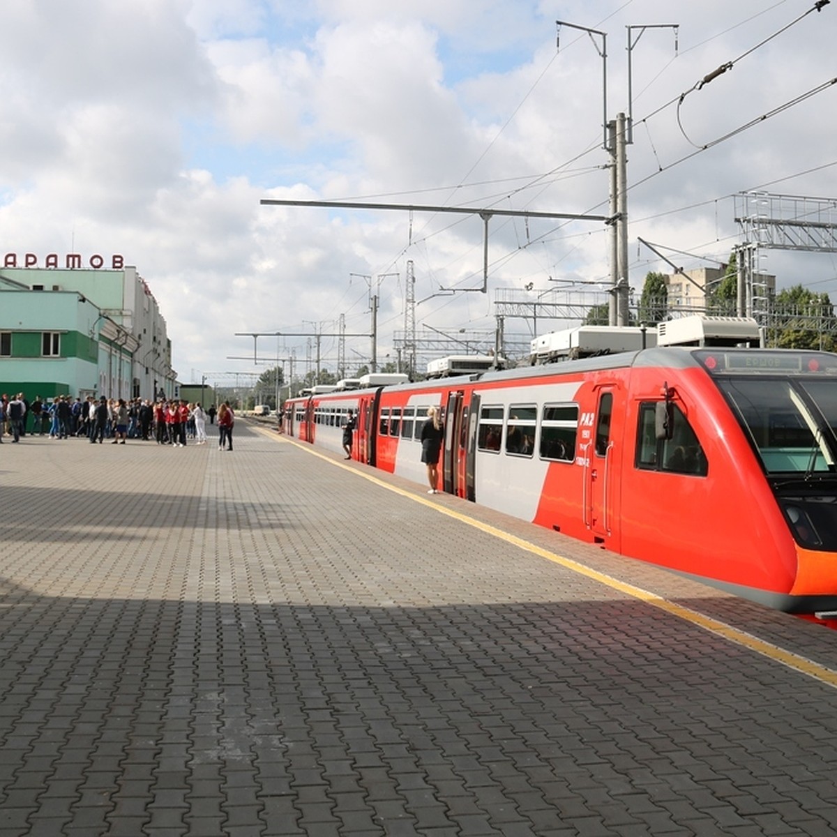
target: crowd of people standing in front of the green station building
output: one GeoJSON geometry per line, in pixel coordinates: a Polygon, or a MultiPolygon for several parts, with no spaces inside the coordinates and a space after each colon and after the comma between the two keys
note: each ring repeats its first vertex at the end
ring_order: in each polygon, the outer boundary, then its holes
{"type": "Polygon", "coordinates": [[[224,402],[218,410],[207,410],[185,398],[151,401],[148,398],[71,398],[61,395],[45,401],[36,396],[30,403],[23,393],[0,398],[0,444],[4,436],[13,442],[30,435],[49,439],[79,437],[91,444],[126,444],[127,439],[150,441],[185,447],[187,439],[194,444],[207,444],[206,425],[218,416],[218,448],[233,449],[235,413],[224,402]]]}

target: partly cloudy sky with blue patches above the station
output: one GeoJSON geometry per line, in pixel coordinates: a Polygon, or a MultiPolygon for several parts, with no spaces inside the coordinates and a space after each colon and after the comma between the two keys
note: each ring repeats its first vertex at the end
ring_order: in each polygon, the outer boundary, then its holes
{"type": "MultiPolygon", "coordinates": [[[[639,295],[648,271],[670,272],[640,238],[716,266],[741,240],[736,194],[837,198],[837,0],[817,6],[4,0],[0,249],[121,254],[182,383],[285,357],[298,375],[316,359],[303,334],[334,370],[341,329],[351,376],[371,359],[373,298],[377,362],[395,359],[410,266],[419,332],[490,332],[498,299],[601,300],[608,228],[493,216],[483,293],[477,214],[263,199],[603,215],[603,120],[630,112],[639,295]]],[[[834,254],[763,257],[779,288],[837,299],[834,254]]]]}

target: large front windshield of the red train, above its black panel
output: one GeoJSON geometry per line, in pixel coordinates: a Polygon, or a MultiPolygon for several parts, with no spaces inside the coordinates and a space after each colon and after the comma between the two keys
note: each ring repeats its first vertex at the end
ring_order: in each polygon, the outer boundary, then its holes
{"type": "Polygon", "coordinates": [[[735,408],[768,475],[837,471],[833,379],[728,377],[716,383],[735,408]]]}

